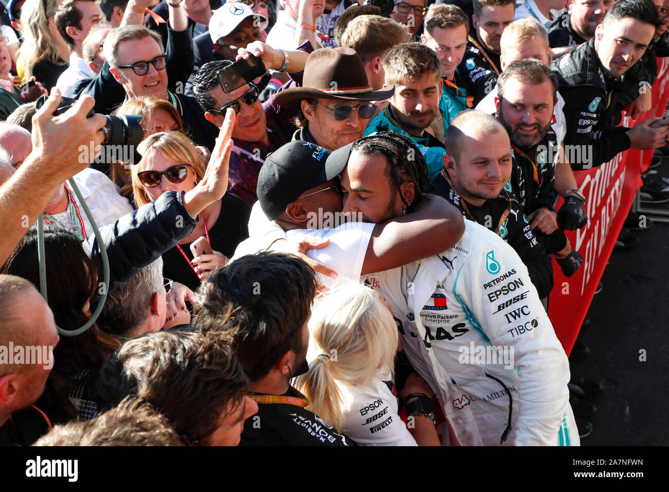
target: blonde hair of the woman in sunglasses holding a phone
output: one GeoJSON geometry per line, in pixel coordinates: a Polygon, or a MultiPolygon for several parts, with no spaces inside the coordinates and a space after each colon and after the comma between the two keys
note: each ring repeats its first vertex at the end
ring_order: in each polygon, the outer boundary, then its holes
{"type": "Polygon", "coordinates": [[[195,149],[195,144],[191,139],[183,135],[181,132],[160,132],[149,135],[147,139],[142,140],[137,146],[137,151],[142,155],[142,159],[136,166],[132,166],[130,174],[132,176],[134,201],[138,207],[153,201],[147,194],[144,185],[142,185],[142,182],[137,175],[141,171],[146,155],[151,151],[159,152],[171,161],[190,164],[193,167],[193,171],[195,171],[198,180],[202,179],[205,175],[205,166],[201,153],[195,149]]]}

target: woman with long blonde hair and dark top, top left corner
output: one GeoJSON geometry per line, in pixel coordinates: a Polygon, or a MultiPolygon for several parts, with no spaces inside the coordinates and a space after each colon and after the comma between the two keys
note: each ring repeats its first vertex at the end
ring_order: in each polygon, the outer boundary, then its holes
{"type": "Polygon", "coordinates": [[[58,32],[54,15],[56,0],[26,0],[21,7],[23,44],[16,62],[22,82],[35,76],[51,92],[70,59],[70,48],[58,32]]]}

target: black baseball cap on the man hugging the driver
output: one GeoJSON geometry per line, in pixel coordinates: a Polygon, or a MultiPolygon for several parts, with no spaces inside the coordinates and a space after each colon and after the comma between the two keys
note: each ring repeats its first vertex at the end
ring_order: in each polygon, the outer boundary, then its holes
{"type": "Polygon", "coordinates": [[[258,174],[256,189],[267,218],[276,219],[304,191],[339,176],[349,162],[351,147],[352,143],[330,152],[314,143],[296,140],[268,155],[258,174]]]}

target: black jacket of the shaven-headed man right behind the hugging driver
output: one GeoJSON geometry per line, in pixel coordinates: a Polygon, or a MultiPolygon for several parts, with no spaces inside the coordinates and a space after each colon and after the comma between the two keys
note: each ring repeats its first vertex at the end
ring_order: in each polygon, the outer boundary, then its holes
{"type": "Polygon", "coordinates": [[[527,271],[532,283],[537,288],[539,297],[541,299],[547,297],[553,289],[551,258],[543,246],[537,242],[520,202],[513,192],[509,191],[511,189],[510,184],[506,184],[498,197],[487,199],[483,206],[477,207],[467,203],[465,209],[464,200],[451,187],[443,173],[444,171],[433,179],[432,183],[427,185],[426,192],[436,193],[446,198],[462,212],[464,218],[474,220],[498,234],[518,253],[523,264],[527,266],[527,271]],[[500,222],[507,209],[509,209],[507,218],[500,222]]]}

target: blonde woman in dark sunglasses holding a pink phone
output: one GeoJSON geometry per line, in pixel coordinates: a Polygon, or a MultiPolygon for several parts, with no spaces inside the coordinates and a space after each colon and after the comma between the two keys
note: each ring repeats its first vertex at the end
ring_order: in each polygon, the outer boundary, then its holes
{"type": "MultiPolygon", "coordinates": [[[[154,133],[137,148],[142,160],[132,167],[132,191],[137,206],[154,201],[166,191],[189,191],[204,175],[203,156],[183,133],[154,133]]],[[[212,159],[217,157],[213,156],[212,159]]],[[[237,244],[248,238],[251,209],[231,195],[211,203],[195,231],[163,254],[163,272],[195,291],[199,282],[225,265],[237,244]],[[213,254],[193,258],[190,245],[204,236],[213,254]]]]}

